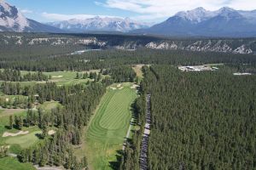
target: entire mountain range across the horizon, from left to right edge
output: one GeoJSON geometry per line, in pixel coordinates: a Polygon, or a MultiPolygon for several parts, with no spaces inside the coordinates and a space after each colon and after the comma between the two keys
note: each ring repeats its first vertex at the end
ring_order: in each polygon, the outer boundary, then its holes
{"type": "Polygon", "coordinates": [[[256,10],[220,8],[208,11],[195,8],[178,12],[168,20],[150,26],[129,18],[94,17],[85,20],[63,20],[39,23],[26,19],[15,6],[0,0],[0,31],[18,32],[128,32],[171,37],[256,37],[256,10]]]}

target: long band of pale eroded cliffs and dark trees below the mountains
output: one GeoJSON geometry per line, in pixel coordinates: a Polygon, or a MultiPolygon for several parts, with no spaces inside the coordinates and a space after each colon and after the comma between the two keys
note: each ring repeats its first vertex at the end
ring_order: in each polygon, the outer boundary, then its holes
{"type": "Polygon", "coordinates": [[[66,34],[1,33],[0,48],[7,46],[81,46],[84,48],[116,48],[135,50],[153,48],[233,54],[256,54],[256,38],[160,38],[124,35],[72,36],[66,34]]]}

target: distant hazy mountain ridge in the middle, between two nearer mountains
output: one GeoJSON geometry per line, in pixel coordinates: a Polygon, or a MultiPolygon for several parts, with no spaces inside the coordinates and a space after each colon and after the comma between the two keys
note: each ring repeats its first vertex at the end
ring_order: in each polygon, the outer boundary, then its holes
{"type": "Polygon", "coordinates": [[[55,26],[62,30],[72,32],[84,32],[84,31],[121,31],[127,32],[141,28],[148,28],[148,24],[140,23],[129,18],[102,18],[96,16],[95,18],[85,20],[64,20],[59,22],[46,23],[49,26],[55,26]]]}

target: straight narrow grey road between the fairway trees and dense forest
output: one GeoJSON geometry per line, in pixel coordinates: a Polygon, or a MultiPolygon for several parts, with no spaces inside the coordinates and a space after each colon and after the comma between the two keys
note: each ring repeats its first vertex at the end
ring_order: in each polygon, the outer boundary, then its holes
{"type": "Polygon", "coordinates": [[[150,124],[151,124],[151,108],[150,108],[150,98],[151,94],[147,95],[147,112],[146,112],[146,124],[143,133],[143,141],[141,145],[141,155],[140,155],[140,169],[148,170],[148,140],[150,134],[150,124]]]}

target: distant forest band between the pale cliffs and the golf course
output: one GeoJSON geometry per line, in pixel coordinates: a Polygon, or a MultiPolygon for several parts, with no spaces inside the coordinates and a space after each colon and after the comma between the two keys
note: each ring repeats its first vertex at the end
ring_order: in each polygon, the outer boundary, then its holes
{"type": "MultiPolygon", "coordinates": [[[[160,49],[138,49],[136,51],[102,50],[89,51],[80,55],[11,54],[0,55],[0,68],[20,71],[89,71],[108,69],[118,65],[168,64],[168,65],[203,65],[209,63],[233,63],[236,65],[255,65],[253,54],[224,54],[160,49]]],[[[54,50],[54,49],[53,49],[54,50]]],[[[56,48],[60,50],[61,48],[56,48]]],[[[50,52],[50,51],[49,51],[50,52]]],[[[12,53],[12,52],[9,52],[12,53]]]]}

